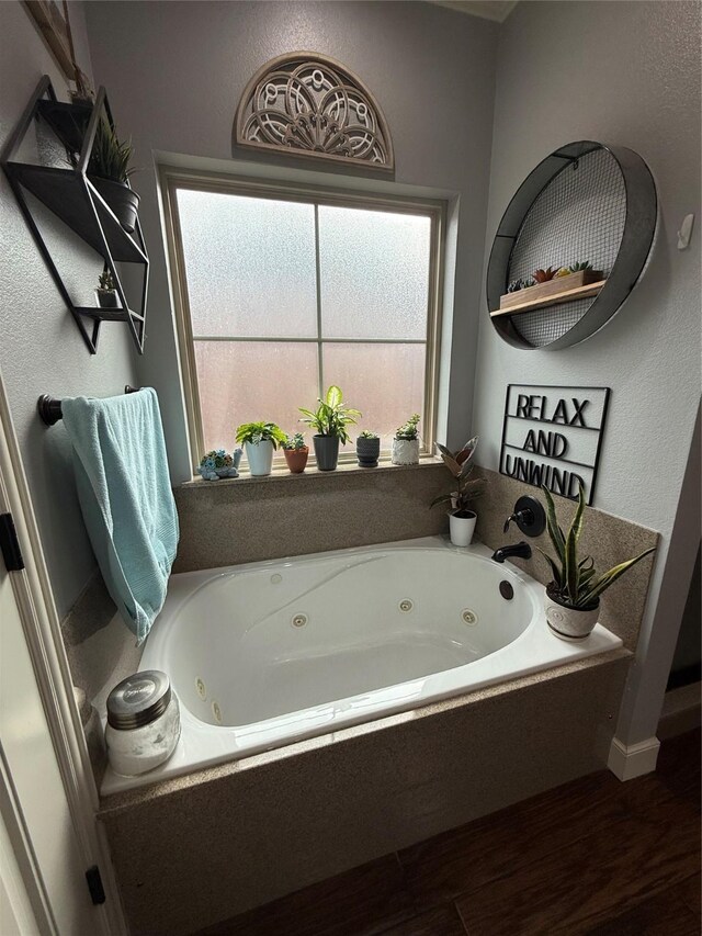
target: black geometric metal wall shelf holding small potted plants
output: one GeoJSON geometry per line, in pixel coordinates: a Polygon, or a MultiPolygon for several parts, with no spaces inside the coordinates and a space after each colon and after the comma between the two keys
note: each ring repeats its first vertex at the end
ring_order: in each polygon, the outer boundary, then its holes
{"type": "Polygon", "coordinates": [[[139,353],[144,352],[146,298],[148,294],[149,259],[139,219],[134,236],[120,224],[87,174],[98,122],[106,119],[114,126],[104,88],[98,90],[94,105],[67,104],[56,100],[48,76],[38,82],[24,114],[8,139],[0,163],[10,181],[20,208],[32,232],[36,246],[68,306],[82,338],[92,354],[98,350],[100,324],[127,324],[139,353]],[[48,97],[47,97],[48,95],[48,97]],[[67,168],[35,165],[14,159],[34,121],[43,121],[67,151],[67,168]],[[79,154],[79,156],[78,156],[79,154]],[[73,230],[103,260],[112,273],[120,308],[77,305],[42,236],[32,204],[31,193],[56,217],[73,230]],[[129,307],[116,263],[137,263],[143,267],[139,309],[129,307]]]}

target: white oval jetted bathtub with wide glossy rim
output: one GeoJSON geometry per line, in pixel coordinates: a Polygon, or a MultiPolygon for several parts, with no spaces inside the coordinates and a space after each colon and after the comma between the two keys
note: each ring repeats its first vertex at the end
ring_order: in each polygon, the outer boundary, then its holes
{"type": "Polygon", "coordinates": [[[140,669],[169,674],[182,735],[139,778],[186,774],[416,709],[622,641],[554,636],[543,586],[440,537],[173,575],[140,669]],[[502,590],[513,593],[508,599],[502,590]]]}

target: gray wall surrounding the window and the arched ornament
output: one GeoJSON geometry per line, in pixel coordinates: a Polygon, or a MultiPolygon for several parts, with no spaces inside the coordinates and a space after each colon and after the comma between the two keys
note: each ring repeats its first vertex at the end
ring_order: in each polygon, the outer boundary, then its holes
{"type": "MultiPolygon", "coordinates": [[[[190,462],[151,150],[234,167],[231,127],[247,81],[269,59],[295,49],[339,59],[375,93],[393,135],[397,182],[460,195],[448,420],[451,441],[465,441],[498,25],[417,2],[101,2],[89,4],[87,16],[95,75],[110,91],[117,126],[133,135],[136,161],[149,167],[133,180],[152,260],[140,382],[159,393],[173,480],[190,476],[190,462]]],[[[235,160],[241,159],[256,157],[238,153],[235,160]]]]}

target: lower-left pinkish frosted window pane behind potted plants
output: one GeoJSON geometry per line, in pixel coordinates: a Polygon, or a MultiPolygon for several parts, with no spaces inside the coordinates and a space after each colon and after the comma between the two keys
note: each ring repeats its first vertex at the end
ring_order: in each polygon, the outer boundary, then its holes
{"type": "Polygon", "coordinates": [[[235,448],[240,422],[271,420],[302,432],[298,406],[317,398],[317,346],[195,341],[205,449],[235,448]]]}

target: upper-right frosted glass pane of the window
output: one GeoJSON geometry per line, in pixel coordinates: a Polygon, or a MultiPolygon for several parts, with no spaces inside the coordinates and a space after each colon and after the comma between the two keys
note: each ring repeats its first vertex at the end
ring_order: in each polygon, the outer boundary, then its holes
{"type": "Polygon", "coordinates": [[[319,206],[325,338],[427,337],[428,217],[319,206]]]}

